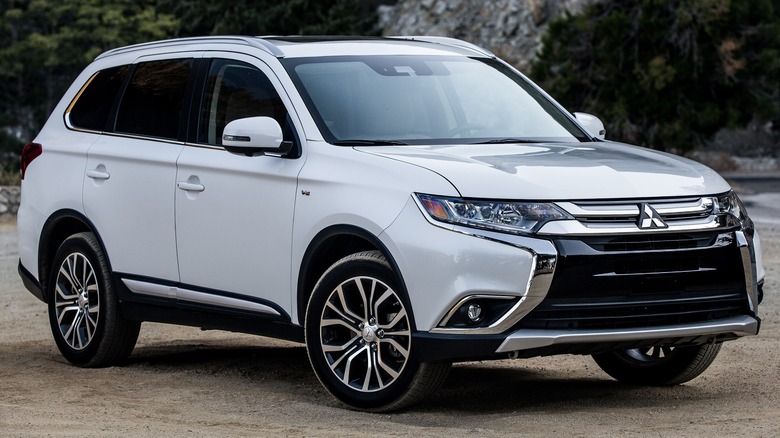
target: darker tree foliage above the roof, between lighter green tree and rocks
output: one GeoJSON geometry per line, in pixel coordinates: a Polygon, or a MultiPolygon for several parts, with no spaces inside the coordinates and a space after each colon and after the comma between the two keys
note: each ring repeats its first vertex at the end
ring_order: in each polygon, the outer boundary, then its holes
{"type": "Polygon", "coordinates": [[[159,0],[181,18],[177,36],[378,35],[379,0],[159,0]]]}

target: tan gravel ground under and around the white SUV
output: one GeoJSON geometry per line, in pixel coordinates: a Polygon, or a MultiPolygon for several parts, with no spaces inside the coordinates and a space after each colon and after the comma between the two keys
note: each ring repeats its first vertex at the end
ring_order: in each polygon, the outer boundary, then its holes
{"type": "Polygon", "coordinates": [[[619,384],[593,360],[456,365],[427,402],[345,409],[298,344],[145,323],[129,363],[80,369],[57,352],[46,307],[21,284],[13,223],[0,224],[0,436],[780,436],[780,193],[737,187],[761,233],[761,334],[724,344],[693,381],[619,384]]]}

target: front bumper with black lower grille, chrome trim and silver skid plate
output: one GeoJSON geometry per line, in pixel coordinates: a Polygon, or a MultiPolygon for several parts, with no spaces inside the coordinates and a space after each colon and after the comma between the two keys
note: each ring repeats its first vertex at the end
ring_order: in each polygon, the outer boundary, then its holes
{"type": "MultiPolygon", "coordinates": [[[[448,316],[417,333],[420,359],[596,354],[758,334],[762,282],[752,235],[712,216],[663,231],[592,226],[590,233],[536,240],[552,244],[553,251],[532,245],[534,239],[450,227],[530,254],[533,263],[524,269],[532,271],[517,306],[495,324],[448,327],[448,316]],[[545,269],[539,260],[547,261],[545,269]]],[[[459,297],[450,309],[468,299],[459,297]]]]}

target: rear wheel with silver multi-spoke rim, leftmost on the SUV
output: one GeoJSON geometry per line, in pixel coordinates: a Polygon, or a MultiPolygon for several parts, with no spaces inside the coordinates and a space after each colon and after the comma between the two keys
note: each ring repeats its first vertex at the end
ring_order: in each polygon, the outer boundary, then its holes
{"type": "Polygon", "coordinates": [[[119,314],[116,288],[95,235],[68,237],[54,256],[49,278],[49,323],[60,353],[82,367],[127,359],[141,323],[119,314]]]}

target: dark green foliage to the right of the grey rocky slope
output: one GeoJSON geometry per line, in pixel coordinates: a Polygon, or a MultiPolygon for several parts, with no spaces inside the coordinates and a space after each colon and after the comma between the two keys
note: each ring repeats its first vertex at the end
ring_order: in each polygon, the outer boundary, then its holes
{"type": "Polygon", "coordinates": [[[780,114],[775,0],[607,0],[551,23],[543,44],[532,76],[612,139],[684,152],[780,114]]]}

